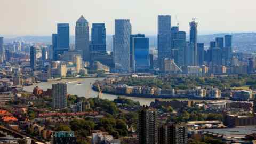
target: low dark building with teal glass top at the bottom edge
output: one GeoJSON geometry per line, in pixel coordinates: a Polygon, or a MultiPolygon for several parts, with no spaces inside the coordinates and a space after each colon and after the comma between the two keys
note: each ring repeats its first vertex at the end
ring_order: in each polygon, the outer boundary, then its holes
{"type": "Polygon", "coordinates": [[[52,134],[52,144],[69,143],[76,144],[76,137],[73,131],[59,131],[52,134]]]}

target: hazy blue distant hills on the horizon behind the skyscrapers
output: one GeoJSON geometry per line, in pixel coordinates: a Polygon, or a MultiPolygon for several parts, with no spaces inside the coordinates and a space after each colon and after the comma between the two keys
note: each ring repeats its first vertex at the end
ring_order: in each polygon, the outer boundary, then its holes
{"type": "MultiPolygon", "coordinates": [[[[198,42],[204,43],[205,46],[209,45],[210,41],[214,41],[215,37],[223,37],[225,33],[211,34],[211,35],[199,35],[198,42]]],[[[256,33],[234,33],[233,35],[233,46],[234,50],[239,52],[254,52],[256,51],[256,33]]],[[[146,35],[149,37],[149,46],[157,47],[157,36],[156,35],[146,35]]],[[[5,42],[11,42],[14,40],[36,42],[36,43],[52,43],[51,36],[18,36],[13,38],[5,38],[5,42]]],[[[189,37],[187,37],[187,41],[189,37]]],[[[112,47],[112,36],[106,36],[107,50],[111,50],[112,47]]],[[[70,36],[70,43],[75,43],[75,36],[70,36]]]]}

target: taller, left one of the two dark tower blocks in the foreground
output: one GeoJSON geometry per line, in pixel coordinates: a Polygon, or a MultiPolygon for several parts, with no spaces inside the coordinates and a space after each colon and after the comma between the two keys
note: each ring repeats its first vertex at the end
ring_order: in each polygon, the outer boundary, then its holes
{"type": "Polygon", "coordinates": [[[157,111],[148,106],[143,106],[138,113],[139,144],[157,144],[157,111]]]}

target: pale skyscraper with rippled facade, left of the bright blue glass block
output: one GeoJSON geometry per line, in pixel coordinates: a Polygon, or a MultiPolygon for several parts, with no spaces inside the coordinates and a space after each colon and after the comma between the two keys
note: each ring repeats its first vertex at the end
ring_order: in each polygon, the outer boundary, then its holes
{"type": "Polygon", "coordinates": [[[115,69],[130,70],[130,35],[132,27],[129,19],[115,20],[115,69]]]}

